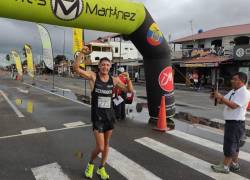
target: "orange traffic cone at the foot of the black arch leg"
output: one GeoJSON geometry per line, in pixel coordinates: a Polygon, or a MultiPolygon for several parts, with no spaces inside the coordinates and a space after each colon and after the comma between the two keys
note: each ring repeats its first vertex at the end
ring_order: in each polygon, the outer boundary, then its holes
{"type": "Polygon", "coordinates": [[[167,118],[166,118],[166,103],[165,96],[161,97],[161,105],[158,115],[157,127],[154,130],[165,132],[167,131],[167,118]]]}

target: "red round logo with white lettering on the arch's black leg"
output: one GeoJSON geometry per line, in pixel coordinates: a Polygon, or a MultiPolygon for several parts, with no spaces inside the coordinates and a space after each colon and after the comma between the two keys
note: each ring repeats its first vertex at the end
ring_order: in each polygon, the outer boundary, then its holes
{"type": "Polygon", "coordinates": [[[171,66],[163,69],[160,73],[159,85],[164,91],[171,92],[174,90],[174,80],[171,66]]]}

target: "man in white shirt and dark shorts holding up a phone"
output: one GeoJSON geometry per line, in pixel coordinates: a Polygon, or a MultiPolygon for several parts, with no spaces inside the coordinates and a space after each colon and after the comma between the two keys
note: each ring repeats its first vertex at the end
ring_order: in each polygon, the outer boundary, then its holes
{"type": "Polygon", "coordinates": [[[247,75],[238,72],[231,79],[232,90],[225,96],[219,92],[212,92],[211,98],[224,104],[224,161],[219,165],[212,165],[213,171],[228,174],[230,171],[239,172],[239,149],[245,136],[245,120],[250,92],[246,88],[247,75]]]}

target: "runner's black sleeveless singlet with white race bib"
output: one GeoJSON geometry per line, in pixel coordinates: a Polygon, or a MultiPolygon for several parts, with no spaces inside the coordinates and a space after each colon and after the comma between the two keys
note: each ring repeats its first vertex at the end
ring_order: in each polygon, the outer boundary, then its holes
{"type": "Polygon", "coordinates": [[[111,122],[115,121],[114,110],[112,107],[112,93],[113,93],[113,79],[109,75],[109,80],[103,82],[100,79],[99,74],[96,74],[96,81],[94,89],[92,91],[92,100],[91,100],[91,120],[102,121],[102,122],[111,122]]]}

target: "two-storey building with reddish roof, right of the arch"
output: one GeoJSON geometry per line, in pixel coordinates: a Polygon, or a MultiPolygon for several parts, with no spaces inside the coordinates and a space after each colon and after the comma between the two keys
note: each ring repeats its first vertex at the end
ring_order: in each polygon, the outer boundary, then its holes
{"type": "Polygon", "coordinates": [[[195,72],[204,85],[213,86],[218,73],[220,85],[229,86],[235,72],[250,75],[250,24],[200,30],[176,39],[173,46],[175,82],[188,84],[195,72]],[[181,51],[175,51],[176,45],[181,51]]]}

